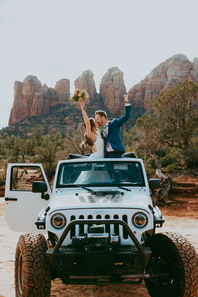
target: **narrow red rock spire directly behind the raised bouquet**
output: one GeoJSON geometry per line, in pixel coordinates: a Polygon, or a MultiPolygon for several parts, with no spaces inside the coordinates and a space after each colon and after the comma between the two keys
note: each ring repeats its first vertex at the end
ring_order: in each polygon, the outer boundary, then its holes
{"type": "Polygon", "coordinates": [[[89,94],[89,99],[86,100],[86,104],[95,99],[96,96],[96,84],[94,81],[94,74],[92,70],[84,71],[74,82],[75,88],[85,89],[89,94]]]}

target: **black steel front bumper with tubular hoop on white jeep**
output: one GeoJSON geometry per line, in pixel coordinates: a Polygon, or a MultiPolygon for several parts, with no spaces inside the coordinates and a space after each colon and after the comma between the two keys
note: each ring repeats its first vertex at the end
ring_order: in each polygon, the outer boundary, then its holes
{"type": "Polygon", "coordinates": [[[143,247],[128,224],[118,219],[89,219],[73,220],[70,222],[59,238],[55,247],[49,247],[47,251],[50,263],[56,271],[56,277],[84,278],[96,276],[95,278],[136,278],[149,277],[145,274],[151,251],[149,247],[143,247]],[[111,251],[96,248],[85,252],[83,248],[61,246],[69,230],[73,225],[79,224],[120,224],[126,228],[135,246],[121,245],[111,251]],[[138,277],[137,277],[138,275],[138,277]]]}

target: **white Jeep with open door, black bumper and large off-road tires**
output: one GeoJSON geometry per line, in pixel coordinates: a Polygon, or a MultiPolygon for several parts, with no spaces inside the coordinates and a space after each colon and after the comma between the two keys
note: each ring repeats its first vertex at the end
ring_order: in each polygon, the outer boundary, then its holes
{"type": "Polygon", "coordinates": [[[180,235],[155,234],[164,222],[150,198],[159,180],[149,187],[133,153],[69,154],[58,162],[52,193],[42,164],[8,164],[5,219],[11,230],[28,232],[16,247],[16,297],[49,297],[55,278],[65,284],[144,279],[151,297],[197,297],[195,248],[180,235]]]}

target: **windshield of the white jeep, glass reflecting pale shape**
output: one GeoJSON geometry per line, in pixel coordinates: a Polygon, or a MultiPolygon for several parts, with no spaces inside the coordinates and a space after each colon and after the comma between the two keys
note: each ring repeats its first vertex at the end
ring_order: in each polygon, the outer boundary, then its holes
{"type": "Polygon", "coordinates": [[[83,186],[145,187],[141,163],[138,161],[89,161],[62,163],[56,188],[83,186]]]}

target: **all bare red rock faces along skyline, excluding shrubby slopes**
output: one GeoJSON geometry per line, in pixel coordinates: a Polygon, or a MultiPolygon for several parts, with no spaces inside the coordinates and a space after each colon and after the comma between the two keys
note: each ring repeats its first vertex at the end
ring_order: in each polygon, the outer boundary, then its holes
{"type": "MultiPolygon", "coordinates": [[[[156,94],[175,86],[180,80],[186,78],[198,82],[198,58],[191,62],[185,55],[178,54],[155,67],[144,80],[128,92],[130,102],[134,103],[135,107],[140,107],[134,110],[135,117],[141,116],[144,110],[150,112],[151,99],[156,94]]],[[[9,125],[27,117],[46,114],[49,112],[49,107],[59,103],[65,103],[64,107],[68,107],[69,84],[68,79],[61,79],[52,89],[46,85],[42,86],[37,77],[31,75],[27,76],[22,83],[16,81],[9,125]]],[[[85,89],[89,93],[90,99],[86,100],[85,104],[93,110],[109,109],[113,116],[118,116],[120,110],[124,108],[123,95],[126,93],[126,88],[123,72],[118,67],[112,67],[104,74],[100,83],[100,94],[96,92],[94,75],[91,70],[84,71],[75,80],[75,87],[85,89]]],[[[74,105],[80,108],[79,104],[74,105]]]]}

